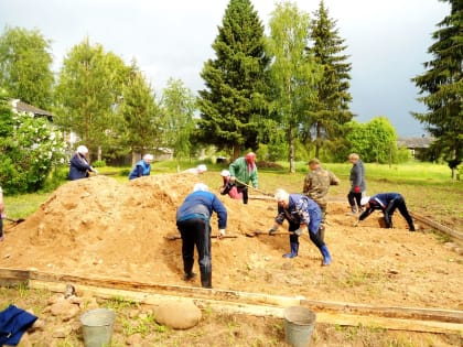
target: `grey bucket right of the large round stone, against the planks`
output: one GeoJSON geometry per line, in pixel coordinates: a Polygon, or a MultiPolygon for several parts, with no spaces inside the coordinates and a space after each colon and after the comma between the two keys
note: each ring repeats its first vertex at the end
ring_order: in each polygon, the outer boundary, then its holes
{"type": "Polygon", "coordinates": [[[287,344],[293,347],[308,347],[315,327],[316,315],[302,306],[284,308],[284,336],[287,344]]]}

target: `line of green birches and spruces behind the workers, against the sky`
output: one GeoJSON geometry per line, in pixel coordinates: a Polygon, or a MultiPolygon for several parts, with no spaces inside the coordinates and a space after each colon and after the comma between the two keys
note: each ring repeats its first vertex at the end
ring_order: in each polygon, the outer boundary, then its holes
{"type": "MultiPolygon", "coordinates": [[[[459,1],[444,1],[452,10],[434,34],[433,61],[412,79],[428,112],[413,117],[437,139],[434,159],[457,165],[462,9],[459,1]]],[[[268,29],[266,35],[250,0],[230,0],[212,43],[215,56],[201,72],[205,88],[194,96],[182,80],[170,79],[158,98],[136,61],[126,64],[88,36],[67,52],[55,78],[51,41],[36,29],[7,26],[0,85],[8,97],[51,110],[54,126],[76,134],[75,145],[85,143],[100,161],[129,153],[134,160],[160,148],[173,149],[180,161],[213,147],[230,159],[252,149],[260,160],[288,160],[291,172],[297,160],[340,162],[349,152],[366,162],[397,162],[397,133],[386,117],[354,120],[352,65],[324,2],[313,15],[277,3],[268,29]]]]}

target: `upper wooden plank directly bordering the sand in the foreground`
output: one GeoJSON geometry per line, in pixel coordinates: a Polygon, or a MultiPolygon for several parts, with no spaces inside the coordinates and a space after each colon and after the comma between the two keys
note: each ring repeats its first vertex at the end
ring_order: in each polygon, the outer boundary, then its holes
{"type": "Polygon", "coordinates": [[[228,290],[207,290],[193,286],[164,285],[155,283],[123,281],[106,278],[83,278],[78,275],[49,273],[41,271],[22,271],[12,269],[0,269],[0,278],[6,275],[8,279],[17,278],[22,281],[30,279],[30,285],[34,283],[46,283],[55,291],[64,292],[67,283],[78,288],[91,286],[100,289],[101,293],[114,291],[133,292],[138,297],[149,295],[173,295],[176,297],[194,297],[195,300],[207,300],[216,302],[227,302],[234,304],[268,305],[288,307],[293,305],[306,306],[315,312],[334,312],[336,314],[370,315],[392,318],[408,318],[421,321],[435,321],[445,323],[463,323],[463,311],[441,310],[441,308],[418,308],[418,307],[396,307],[396,306],[373,306],[357,303],[340,303],[305,300],[303,297],[289,297],[280,295],[269,295],[262,293],[248,293],[228,290]]]}

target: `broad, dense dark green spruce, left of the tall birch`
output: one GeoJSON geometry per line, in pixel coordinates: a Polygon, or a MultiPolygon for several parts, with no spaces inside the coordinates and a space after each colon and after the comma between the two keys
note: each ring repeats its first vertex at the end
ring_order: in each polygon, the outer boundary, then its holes
{"type": "Polygon", "coordinates": [[[249,0],[230,0],[212,47],[216,57],[201,73],[198,139],[218,149],[256,148],[259,117],[266,108],[263,25],[249,0]]]}

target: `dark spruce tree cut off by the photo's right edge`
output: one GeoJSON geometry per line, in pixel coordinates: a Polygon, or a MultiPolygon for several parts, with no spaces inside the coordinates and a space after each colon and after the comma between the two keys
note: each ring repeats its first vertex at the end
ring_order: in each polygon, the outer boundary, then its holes
{"type": "Polygon", "coordinates": [[[451,13],[438,26],[432,37],[435,42],[428,48],[433,58],[426,62],[428,71],[412,80],[420,88],[419,101],[427,112],[412,112],[413,117],[435,138],[434,153],[444,155],[455,176],[462,161],[462,59],[463,59],[463,1],[441,0],[451,4],[451,13]]]}

